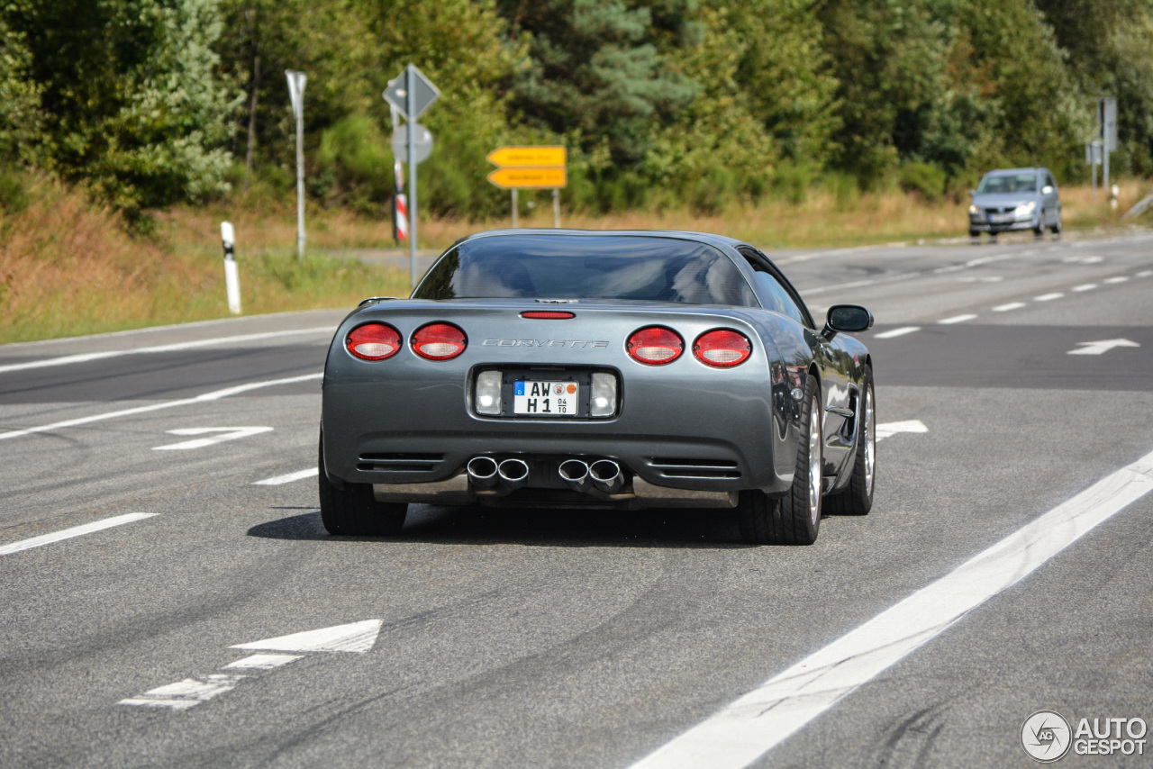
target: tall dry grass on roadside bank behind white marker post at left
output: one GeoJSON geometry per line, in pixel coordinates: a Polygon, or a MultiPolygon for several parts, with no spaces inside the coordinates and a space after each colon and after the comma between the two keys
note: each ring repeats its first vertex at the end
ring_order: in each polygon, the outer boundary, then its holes
{"type": "MultiPolygon", "coordinates": [[[[227,317],[219,225],[194,244],[130,236],[84,195],[38,179],[0,218],[0,342],[227,317]]],[[[407,292],[400,271],[270,251],[242,259],[246,314],[353,307],[407,292]]]]}

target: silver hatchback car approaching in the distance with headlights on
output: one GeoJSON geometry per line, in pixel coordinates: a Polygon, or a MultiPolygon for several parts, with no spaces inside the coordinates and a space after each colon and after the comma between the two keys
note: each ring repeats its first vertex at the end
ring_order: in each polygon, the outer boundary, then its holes
{"type": "Polygon", "coordinates": [[[998,168],[985,174],[969,193],[969,235],[996,235],[1010,229],[1032,229],[1041,235],[1048,227],[1061,232],[1061,198],[1048,168],[998,168]]]}

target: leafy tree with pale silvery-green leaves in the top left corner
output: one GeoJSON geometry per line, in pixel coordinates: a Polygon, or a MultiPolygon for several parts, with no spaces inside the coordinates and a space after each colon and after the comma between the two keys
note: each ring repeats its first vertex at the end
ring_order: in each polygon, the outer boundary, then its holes
{"type": "Polygon", "coordinates": [[[225,188],[235,98],[216,77],[216,0],[13,0],[42,89],[47,165],[137,210],[225,188]]]}

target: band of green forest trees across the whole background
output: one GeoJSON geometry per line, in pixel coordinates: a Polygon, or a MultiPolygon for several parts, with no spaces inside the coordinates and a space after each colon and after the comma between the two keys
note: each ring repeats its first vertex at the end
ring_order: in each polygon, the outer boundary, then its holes
{"type": "Polygon", "coordinates": [[[144,225],[291,196],[291,68],[314,204],[385,217],[408,62],[443,92],[423,210],[461,219],[506,208],[484,156],[510,143],[568,148],[589,213],[1079,180],[1106,95],[1114,174],[1153,174],[1150,0],[0,0],[0,206],[30,168],[144,225]]]}

